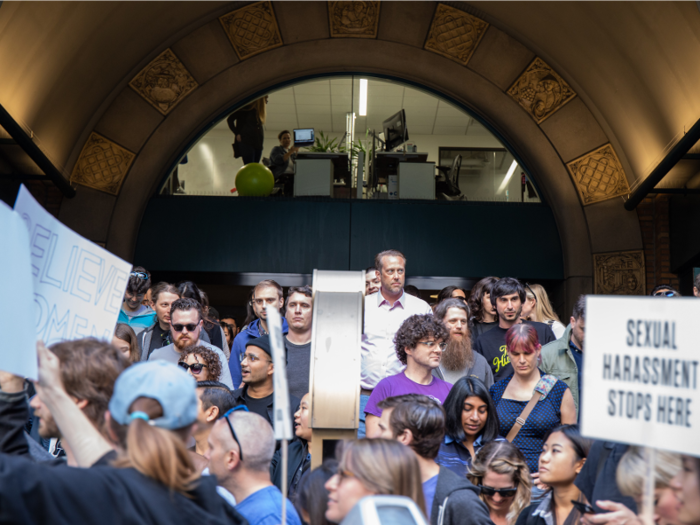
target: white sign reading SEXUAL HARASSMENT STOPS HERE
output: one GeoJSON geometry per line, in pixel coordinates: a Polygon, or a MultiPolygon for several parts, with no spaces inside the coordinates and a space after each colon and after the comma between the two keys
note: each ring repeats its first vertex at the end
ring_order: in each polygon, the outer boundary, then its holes
{"type": "Polygon", "coordinates": [[[586,301],[581,430],[700,455],[700,300],[586,301]]]}

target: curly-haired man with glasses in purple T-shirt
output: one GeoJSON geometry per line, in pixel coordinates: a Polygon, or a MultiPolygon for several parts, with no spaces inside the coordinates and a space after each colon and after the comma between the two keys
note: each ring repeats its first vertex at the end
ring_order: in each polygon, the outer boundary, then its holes
{"type": "Polygon", "coordinates": [[[387,397],[421,394],[441,404],[452,384],[433,376],[440,366],[450,332],[432,314],[412,315],[404,321],[394,337],[396,356],[406,366],[403,372],[382,379],[372,391],[365,407],[367,437],[378,436],[382,409],[379,403],[387,397]]]}

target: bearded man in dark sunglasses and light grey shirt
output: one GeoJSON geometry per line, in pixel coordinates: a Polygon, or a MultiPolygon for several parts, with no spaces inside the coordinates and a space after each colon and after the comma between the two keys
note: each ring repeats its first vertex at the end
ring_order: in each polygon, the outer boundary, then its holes
{"type": "Polygon", "coordinates": [[[178,299],[170,307],[170,338],[173,341],[168,346],[155,350],[148,358],[149,361],[163,359],[173,364],[180,360],[180,354],[188,346],[204,346],[219,356],[221,362],[221,377],[219,381],[233,390],[231,373],[229,372],[226,355],[221,348],[200,339],[202,332],[202,307],[194,299],[178,299]]]}

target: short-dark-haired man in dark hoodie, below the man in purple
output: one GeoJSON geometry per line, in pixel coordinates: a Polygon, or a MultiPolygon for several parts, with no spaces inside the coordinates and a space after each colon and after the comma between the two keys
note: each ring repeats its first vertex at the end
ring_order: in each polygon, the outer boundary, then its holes
{"type": "Polygon", "coordinates": [[[413,450],[418,457],[425,510],[431,525],[493,525],[479,489],[447,467],[435,463],[445,438],[445,412],[427,396],[408,394],[379,403],[381,433],[413,450]]]}

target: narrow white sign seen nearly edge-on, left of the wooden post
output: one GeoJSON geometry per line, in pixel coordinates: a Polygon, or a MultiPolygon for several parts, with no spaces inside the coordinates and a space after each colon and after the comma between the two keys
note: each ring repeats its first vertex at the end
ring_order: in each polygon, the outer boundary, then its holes
{"type": "Polygon", "coordinates": [[[289,411],[289,388],[287,386],[287,358],[282,338],[282,317],[273,306],[266,306],[267,327],[270,330],[270,346],[272,347],[272,364],[275,373],[272,375],[274,397],[274,427],[275,439],[292,439],[292,417],[289,411]]]}

